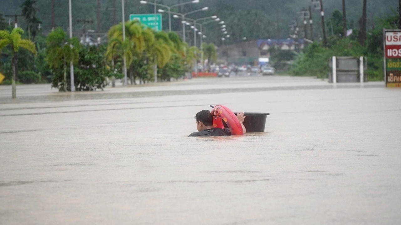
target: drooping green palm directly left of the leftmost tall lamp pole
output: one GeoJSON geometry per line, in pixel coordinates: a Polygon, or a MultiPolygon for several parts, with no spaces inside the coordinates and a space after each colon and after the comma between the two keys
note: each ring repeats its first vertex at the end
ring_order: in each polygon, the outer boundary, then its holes
{"type": "Polygon", "coordinates": [[[51,68],[63,68],[63,80],[53,80],[53,86],[61,87],[60,90],[67,91],[67,66],[72,61],[77,64],[79,59],[79,40],[67,38],[67,34],[61,28],[53,30],[46,38],[46,61],[51,68]]]}

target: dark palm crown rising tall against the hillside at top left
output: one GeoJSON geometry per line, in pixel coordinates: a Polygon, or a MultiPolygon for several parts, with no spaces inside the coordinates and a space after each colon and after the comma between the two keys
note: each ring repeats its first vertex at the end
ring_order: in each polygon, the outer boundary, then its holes
{"type": "Polygon", "coordinates": [[[36,17],[36,11],[38,9],[34,6],[36,0],[25,0],[22,5],[22,15],[25,16],[25,20],[28,23],[28,38],[30,40],[35,40],[36,32],[38,30],[38,25],[41,24],[41,20],[36,17]],[[32,39],[30,38],[32,34],[32,39]]]}

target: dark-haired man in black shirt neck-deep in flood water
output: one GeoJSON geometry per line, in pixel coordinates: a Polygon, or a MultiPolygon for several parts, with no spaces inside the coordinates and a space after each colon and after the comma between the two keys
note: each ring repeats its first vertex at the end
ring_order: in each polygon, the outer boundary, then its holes
{"type": "MultiPolygon", "coordinates": [[[[237,113],[237,119],[241,123],[244,134],[247,132],[243,122],[246,116],[243,112],[237,113]]],[[[196,113],[196,129],[198,132],[194,132],[189,137],[211,137],[211,136],[230,136],[231,131],[229,128],[221,129],[213,127],[213,116],[209,110],[202,110],[196,113]]]]}

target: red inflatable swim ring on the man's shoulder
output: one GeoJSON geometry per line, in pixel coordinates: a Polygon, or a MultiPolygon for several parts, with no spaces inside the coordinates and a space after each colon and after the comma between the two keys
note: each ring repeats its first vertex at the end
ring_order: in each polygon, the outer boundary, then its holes
{"type": "Polygon", "coordinates": [[[241,123],[231,109],[223,105],[217,105],[213,108],[211,113],[213,116],[213,127],[224,129],[224,121],[231,130],[232,135],[244,134],[241,123]]]}

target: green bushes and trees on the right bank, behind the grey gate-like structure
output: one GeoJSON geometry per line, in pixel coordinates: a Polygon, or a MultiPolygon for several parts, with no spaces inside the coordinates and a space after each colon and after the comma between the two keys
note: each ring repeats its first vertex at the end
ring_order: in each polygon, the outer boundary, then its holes
{"type": "MultiPolygon", "coordinates": [[[[314,42],[300,52],[295,52],[294,62],[290,73],[296,76],[316,75],[318,78],[327,78],[330,72],[328,65],[332,56],[366,56],[367,78],[369,81],[383,80],[383,29],[397,29],[398,16],[377,19],[376,27],[367,32],[366,44],[363,46],[358,39],[358,30],[351,36],[341,36],[342,14],[336,10],[329,21],[333,22],[333,35],[328,37],[327,47],[321,42],[314,42]]],[[[331,25],[331,24],[330,24],[331,25]]]]}

